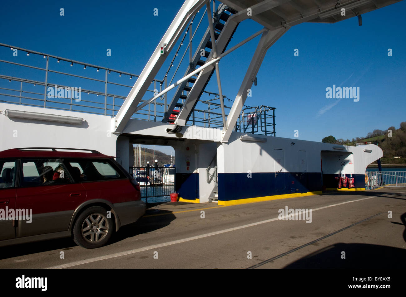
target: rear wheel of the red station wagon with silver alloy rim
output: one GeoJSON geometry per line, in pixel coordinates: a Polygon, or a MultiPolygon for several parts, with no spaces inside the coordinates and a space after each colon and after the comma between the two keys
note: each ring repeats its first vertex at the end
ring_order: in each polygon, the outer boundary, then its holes
{"type": "Polygon", "coordinates": [[[84,248],[104,246],[114,232],[114,220],[101,206],[85,209],[73,225],[73,240],[84,248]]]}

